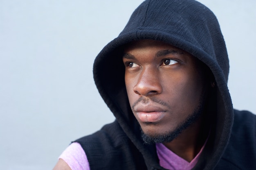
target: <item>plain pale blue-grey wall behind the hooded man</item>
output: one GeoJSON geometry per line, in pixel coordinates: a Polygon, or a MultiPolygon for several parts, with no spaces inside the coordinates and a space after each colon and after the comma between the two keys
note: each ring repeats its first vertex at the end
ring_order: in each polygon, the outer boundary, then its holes
{"type": "MultiPolygon", "coordinates": [[[[52,169],[70,141],[114,117],[95,56],[142,0],[0,0],[0,169],[52,169]]],[[[219,19],[234,107],[256,113],[256,1],[200,0],[219,19]]]]}

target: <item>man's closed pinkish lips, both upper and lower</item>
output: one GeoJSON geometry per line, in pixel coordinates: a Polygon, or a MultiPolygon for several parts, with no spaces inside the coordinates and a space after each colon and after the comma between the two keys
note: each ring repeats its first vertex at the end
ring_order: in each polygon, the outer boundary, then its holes
{"type": "Polygon", "coordinates": [[[135,108],[135,113],[140,122],[158,122],[163,119],[166,110],[159,106],[138,105],[135,108]]]}

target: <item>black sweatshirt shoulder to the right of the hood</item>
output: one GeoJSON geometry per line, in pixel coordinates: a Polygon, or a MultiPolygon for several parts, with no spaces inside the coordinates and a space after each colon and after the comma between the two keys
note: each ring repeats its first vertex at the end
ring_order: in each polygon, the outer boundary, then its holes
{"type": "Polygon", "coordinates": [[[234,110],[231,136],[220,164],[233,169],[256,169],[255,114],[234,110]]]}

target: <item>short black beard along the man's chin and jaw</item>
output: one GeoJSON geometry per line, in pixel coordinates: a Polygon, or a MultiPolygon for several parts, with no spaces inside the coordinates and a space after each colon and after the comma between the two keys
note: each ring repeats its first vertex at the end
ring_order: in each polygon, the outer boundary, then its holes
{"type": "MultiPolygon", "coordinates": [[[[141,138],[144,143],[154,144],[154,143],[168,143],[173,141],[179,136],[184,130],[186,130],[191,124],[195,123],[202,115],[203,112],[203,104],[200,100],[200,104],[195,108],[192,114],[190,114],[184,121],[182,121],[175,130],[171,132],[166,132],[164,134],[155,134],[149,135],[145,134],[141,130],[141,138]]],[[[150,122],[148,124],[151,124],[150,122]]]]}

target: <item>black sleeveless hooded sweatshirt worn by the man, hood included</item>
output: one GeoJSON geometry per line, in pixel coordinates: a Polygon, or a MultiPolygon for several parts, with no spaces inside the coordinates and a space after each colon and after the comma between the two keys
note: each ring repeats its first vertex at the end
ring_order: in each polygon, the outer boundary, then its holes
{"type": "Polygon", "coordinates": [[[255,170],[256,116],[233,110],[227,80],[229,59],[214,14],[194,0],[146,0],[124,30],[94,62],[94,81],[116,120],[76,140],[91,170],[164,170],[155,145],[146,145],[132,114],[124,83],[122,47],[150,39],[166,42],[202,61],[216,81],[211,99],[211,132],[195,170],[255,170]]]}

